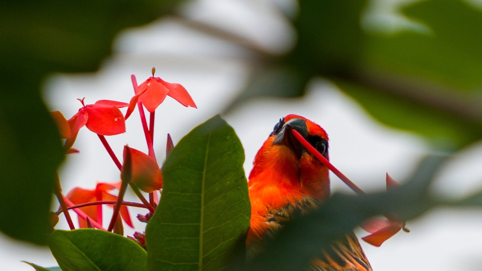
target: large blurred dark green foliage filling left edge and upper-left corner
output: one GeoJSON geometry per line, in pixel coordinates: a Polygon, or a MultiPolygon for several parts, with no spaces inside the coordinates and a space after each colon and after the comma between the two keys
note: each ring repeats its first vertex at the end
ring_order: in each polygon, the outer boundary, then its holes
{"type": "Polygon", "coordinates": [[[52,72],[92,72],[125,27],[146,24],[181,0],[2,1],[0,10],[0,230],[46,244],[57,129],[40,98],[52,72]]]}

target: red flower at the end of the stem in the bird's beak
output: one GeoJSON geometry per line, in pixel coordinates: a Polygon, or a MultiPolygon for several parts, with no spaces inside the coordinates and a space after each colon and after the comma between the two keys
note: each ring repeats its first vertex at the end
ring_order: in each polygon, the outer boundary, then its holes
{"type": "MultiPolygon", "coordinates": [[[[400,184],[397,183],[392,177],[387,173],[387,190],[399,187],[400,184]]],[[[395,219],[396,215],[390,217],[390,219],[382,218],[370,218],[365,220],[362,225],[363,230],[366,230],[372,234],[362,237],[363,241],[368,244],[375,246],[380,246],[383,242],[387,241],[390,237],[395,235],[400,230],[405,230],[405,222],[397,221],[395,219]]]]}

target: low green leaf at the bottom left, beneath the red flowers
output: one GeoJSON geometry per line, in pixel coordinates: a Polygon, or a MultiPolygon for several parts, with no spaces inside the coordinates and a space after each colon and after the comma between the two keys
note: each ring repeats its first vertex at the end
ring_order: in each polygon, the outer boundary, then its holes
{"type": "Polygon", "coordinates": [[[105,230],[55,230],[49,247],[63,271],[147,270],[147,252],[141,246],[105,230]]]}

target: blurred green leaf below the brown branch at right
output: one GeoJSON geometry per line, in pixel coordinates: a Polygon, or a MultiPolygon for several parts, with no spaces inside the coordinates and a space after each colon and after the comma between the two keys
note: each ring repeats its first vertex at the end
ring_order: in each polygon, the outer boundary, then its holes
{"type": "Polygon", "coordinates": [[[482,122],[442,108],[403,99],[376,86],[335,79],[334,82],[355,98],[375,119],[384,124],[426,136],[437,148],[456,149],[482,138],[482,122]]]}

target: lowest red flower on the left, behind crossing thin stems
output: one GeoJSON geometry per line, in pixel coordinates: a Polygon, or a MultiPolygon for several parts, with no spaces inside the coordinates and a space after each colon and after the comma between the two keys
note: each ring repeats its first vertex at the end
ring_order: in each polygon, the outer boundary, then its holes
{"type": "MultiPolygon", "coordinates": [[[[115,201],[117,200],[117,196],[111,195],[107,193],[109,190],[119,189],[120,182],[117,183],[97,183],[97,186],[94,190],[86,190],[81,188],[74,188],[70,190],[66,196],[74,204],[80,203],[88,203],[88,202],[95,202],[95,201],[115,201]]],[[[112,207],[112,204],[108,204],[112,207]]],[[[80,209],[87,214],[90,218],[94,219],[98,223],[102,224],[102,205],[95,205],[95,206],[85,206],[80,207],[80,209]]],[[[134,228],[132,224],[131,216],[129,215],[129,211],[127,210],[127,206],[122,205],[120,207],[120,216],[125,221],[127,225],[131,228],[134,228]]],[[[79,217],[79,226],[80,228],[87,228],[87,221],[82,217],[79,217]]]]}

